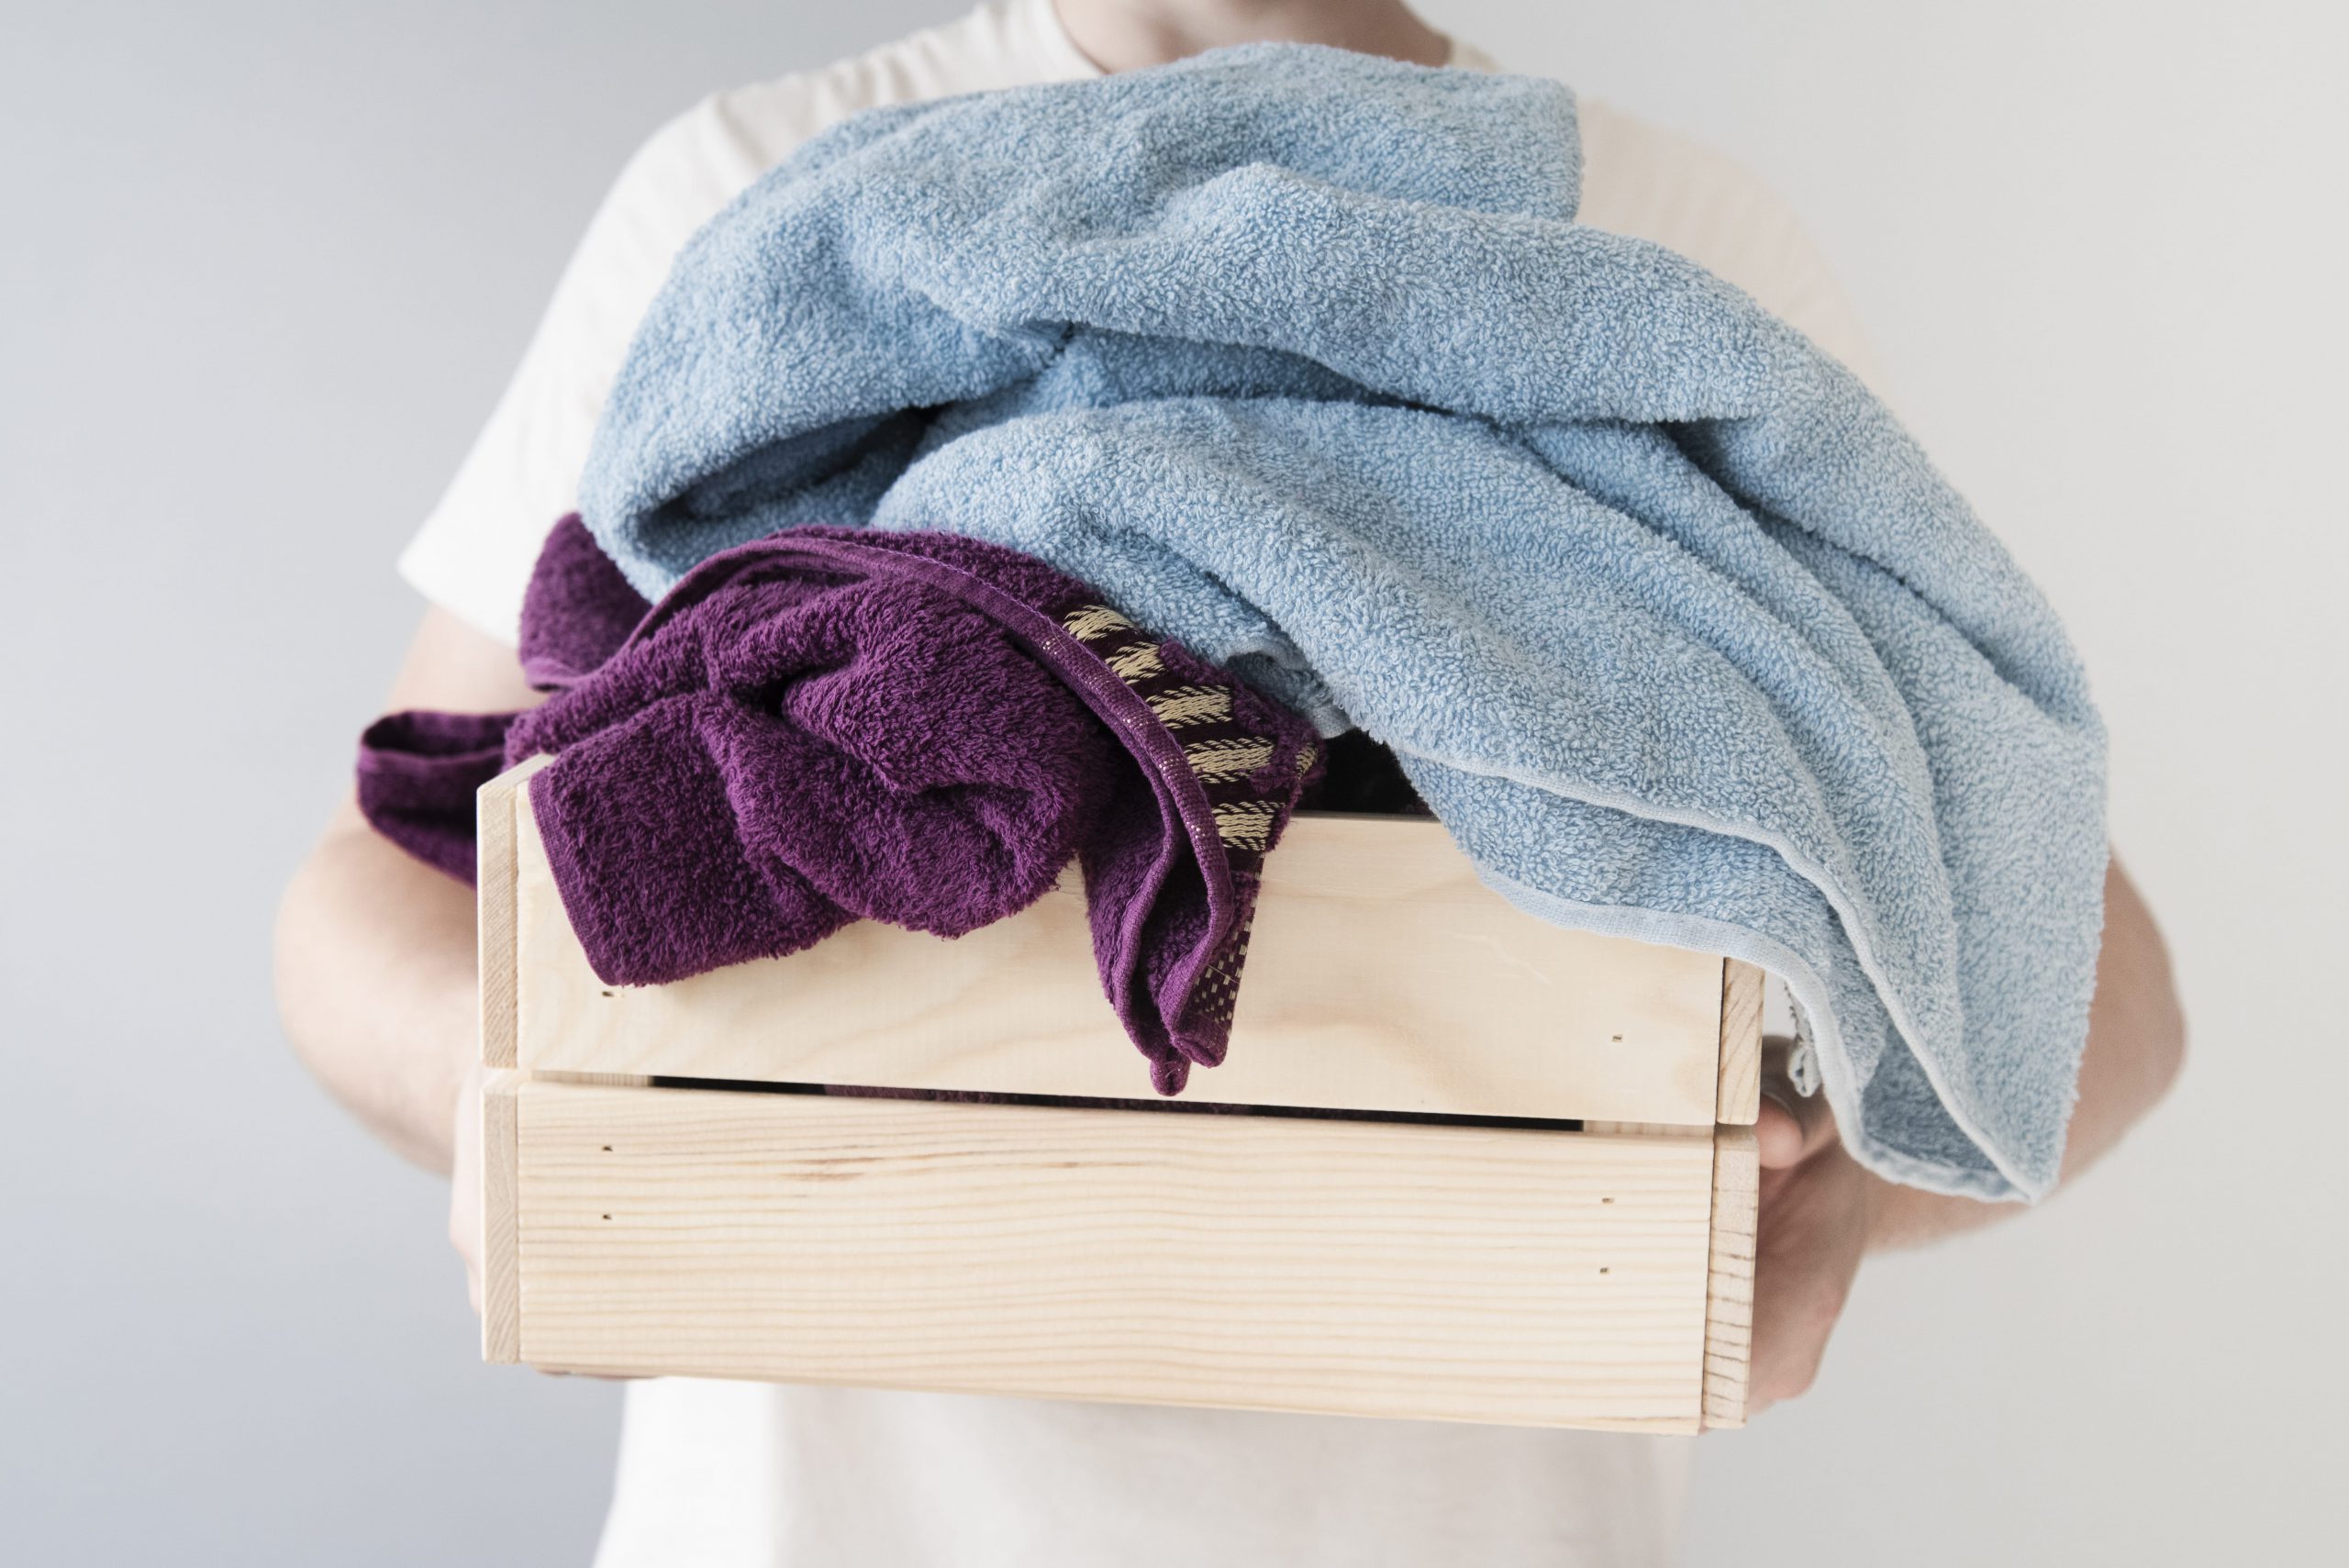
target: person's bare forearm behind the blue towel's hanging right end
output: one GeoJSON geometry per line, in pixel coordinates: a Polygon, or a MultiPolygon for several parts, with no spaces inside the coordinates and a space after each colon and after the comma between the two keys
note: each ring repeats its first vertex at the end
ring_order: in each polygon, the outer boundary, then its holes
{"type": "MultiPolygon", "coordinates": [[[[2072,1181],[2121,1141],[2168,1094],[2185,1061],[2185,1016],[2170,981],[2170,955],[2152,911],[2119,861],[2105,876],[2105,946],[2088,1007],[2088,1049],[2079,1063],[2079,1103],[2065,1141],[2062,1181],[2072,1181]]],[[[1990,1225],[2022,1204],[1985,1204],[1870,1178],[1870,1246],[1917,1246],[1990,1225]]]]}

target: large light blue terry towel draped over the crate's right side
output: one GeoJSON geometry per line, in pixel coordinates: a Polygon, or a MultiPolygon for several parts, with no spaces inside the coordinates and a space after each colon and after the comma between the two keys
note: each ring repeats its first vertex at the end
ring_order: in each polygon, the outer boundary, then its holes
{"type": "Polygon", "coordinates": [[[862,115],[684,251],[587,521],[646,594],[813,521],[1043,556],[1391,744],[1522,908],[1785,976],[1872,1169],[2037,1197],[2079,662],[1849,371],[1579,176],[1553,82],[1294,45],[862,115]]]}

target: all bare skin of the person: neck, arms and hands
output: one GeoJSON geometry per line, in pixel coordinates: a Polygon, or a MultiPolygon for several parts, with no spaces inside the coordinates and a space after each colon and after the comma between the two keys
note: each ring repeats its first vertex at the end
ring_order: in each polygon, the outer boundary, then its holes
{"type": "MultiPolygon", "coordinates": [[[[1447,45],[1395,0],[1057,0],[1076,45],[1132,70],[1231,42],[1301,40],[1440,63],[1447,45]]],[[[385,709],[503,711],[538,702],[512,648],[425,610],[385,709]]],[[[322,1084],[392,1150],[451,1174],[449,1235],[479,1305],[472,892],[378,838],[345,796],[277,915],[277,1002],[322,1084]]],[[[2168,1091],[2185,1021],[2152,911],[2119,861],[2105,880],[2088,1049],[2062,1181],[2168,1091]]],[[[1757,1124],[1762,1235],[1750,1406],[1802,1394],[1860,1258],[2020,1214],[1896,1188],[1844,1153],[1825,1099],[1771,1075],[1757,1124]]]]}

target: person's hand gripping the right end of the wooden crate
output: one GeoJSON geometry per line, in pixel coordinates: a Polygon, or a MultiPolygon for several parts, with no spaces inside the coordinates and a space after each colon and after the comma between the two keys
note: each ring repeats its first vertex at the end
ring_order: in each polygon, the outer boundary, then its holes
{"type": "Polygon", "coordinates": [[[1818,1376],[1818,1359],[1867,1251],[1879,1185],[1844,1153],[1828,1096],[1802,1099],[1785,1087],[1783,1047],[1764,1061],[1762,1113],[1755,1120],[1762,1216],[1748,1415],[1802,1394],[1818,1376]]]}

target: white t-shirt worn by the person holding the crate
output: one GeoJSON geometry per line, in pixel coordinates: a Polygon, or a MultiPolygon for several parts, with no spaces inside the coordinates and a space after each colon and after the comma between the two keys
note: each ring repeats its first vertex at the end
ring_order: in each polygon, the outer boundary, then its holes
{"type": "MultiPolygon", "coordinates": [[[[1468,45],[1452,63],[1496,68],[1468,45]]],[[[665,124],[590,223],[402,573],[514,641],[637,319],[695,228],[862,108],[1090,75],[1052,0],[994,0],[665,124]]],[[[1750,171],[1593,99],[1581,136],[1586,223],[1701,261],[1875,380],[1816,246],[1750,171]]],[[[627,1387],[597,1563],[1640,1568],[1675,1556],[1687,1465],[1687,1439],[662,1378],[627,1387]]]]}

